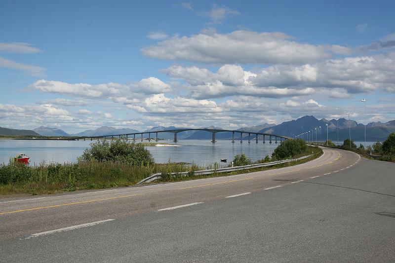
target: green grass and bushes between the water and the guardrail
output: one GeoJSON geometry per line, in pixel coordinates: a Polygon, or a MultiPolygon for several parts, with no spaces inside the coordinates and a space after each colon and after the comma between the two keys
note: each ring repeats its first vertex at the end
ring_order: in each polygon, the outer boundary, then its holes
{"type": "MultiPolygon", "coordinates": [[[[271,157],[255,163],[265,163],[280,159],[296,158],[312,153],[319,153],[317,147],[306,146],[302,140],[286,140],[276,148],[271,157]],[[278,150],[277,150],[278,149],[278,150]]],[[[309,161],[318,157],[319,154],[310,158],[275,167],[251,169],[251,171],[274,169],[309,161]]],[[[244,153],[236,155],[235,166],[251,164],[244,153]]],[[[31,193],[44,194],[59,191],[73,191],[79,189],[100,189],[109,187],[126,187],[135,185],[142,179],[162,173],[162,181],[177,181],[201,178],[194,172],[204,169],[219,168],[216,163],[209,167],[199,167],[196,164],[168,163],[158,164],[154,162],[149,150],[143,144],[131,143],[122,139],[112,141],[97,141],[91,144],[78,158],[77,163],[45,163],[38,165],[25,165],[15,162],[13,158],[8,164],[0,164],[0,195],[31,193]],[[171,173],[189,172],[187,177],[178,178],[171,173]]],[[[250,170],[244,170],[243,173],[250,170]]],[[[237,172],[229,173],[237,174],[237,172]]],[[[224,176],[226,174],[221,174],[224,176]]],[[[216,175],[210,175],[216,176],[216,175]]],[[[207,176],[202,176],[207,177],[207,176]]]]}

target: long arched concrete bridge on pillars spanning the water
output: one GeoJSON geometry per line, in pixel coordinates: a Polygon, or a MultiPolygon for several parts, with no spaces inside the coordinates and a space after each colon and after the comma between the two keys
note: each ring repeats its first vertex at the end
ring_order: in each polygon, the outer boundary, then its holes
{"type": "MultiPolygon", "coordinates": [[[[266,136],[269,137],[269,143],[272,143],[272,138],[274,137],[275,143],[277,143],[277,140],[281,142],[282,140],[288,140],[292,139],[291,137],[287,136],[282,136],[282,135],[276,135],[276,134],[269,134],[269,133],[261,133],[261,132],[246,132],[246,131],[237,131],[237,130],[221,130],[221,129],[176,129],[176,130],[161,130],[161,131],[149,131],[149,132],[136,132],[136,133],[128,133],[128,134],[117,134],[117,135],[103,135],[103,136],[82,136],[75,138],[77,140],[83,139],[84,141],[86,139],[90,139],[91,141],[93,139],[106,139],[106,138],[125,138],[125,139],[132,139],[129,136],[133,136],[133,141],[136,141],[136,135],[140,135],[140,140],[144,140],[144,135],[148,135],[148,141],[150,142],[151,140],[155,140],[158,142],[158,133],[174,133],[174,140],[173,142],[178,142],[177,139],[177,134],[180,132],[185,132],[185,131],[207,131],[212,133],[212,143],[215,143],[215,134],[220,133],[220,132],[231,132],[232,133],[232,143],[235,143],[235,134],[239,133],[240,134],[240,143],[243,142],[243,134],[248,134],[248,143],[251,143],[251,134],[254,136],[255,135],[255,142],[258,143],[259,136],[262,136],[263,143],[266,143],[266,136]],[[151,134],[155,134],[155,138],[151,138],[151,134]],[[277,139],[278,138],[278,139],[277,139]]],[[[137,138],[138,140],[138,138],[137,138]]]]}

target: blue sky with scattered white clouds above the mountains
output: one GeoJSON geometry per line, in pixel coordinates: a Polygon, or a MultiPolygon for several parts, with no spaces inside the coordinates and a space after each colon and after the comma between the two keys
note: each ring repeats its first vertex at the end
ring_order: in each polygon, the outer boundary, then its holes
{"type": "Polygon", "coordinates": [[[0,126],[393,120],[393,10],[392,0],[1,0],[0,126]]]}

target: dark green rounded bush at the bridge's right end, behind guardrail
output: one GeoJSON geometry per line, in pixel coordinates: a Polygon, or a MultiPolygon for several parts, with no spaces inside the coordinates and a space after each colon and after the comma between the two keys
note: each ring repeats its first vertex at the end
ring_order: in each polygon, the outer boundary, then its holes
{"type": "Polygon", "coordinates": [[[302,139],[285,140],[272,153],[272,158],[276,160],[293,158],[306,150],[306,142],[302,139]]]}

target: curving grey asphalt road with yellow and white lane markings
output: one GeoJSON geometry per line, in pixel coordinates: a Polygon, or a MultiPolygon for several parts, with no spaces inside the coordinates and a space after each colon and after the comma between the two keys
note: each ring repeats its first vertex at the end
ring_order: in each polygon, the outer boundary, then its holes
{"type": "Polygon", "coordinates": [[[395,164],[325,149],[277,170],[1,199],[0,223],[0,262],[394,262],[395,164]]]}

